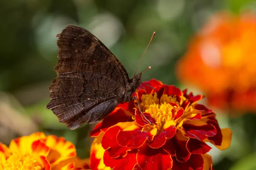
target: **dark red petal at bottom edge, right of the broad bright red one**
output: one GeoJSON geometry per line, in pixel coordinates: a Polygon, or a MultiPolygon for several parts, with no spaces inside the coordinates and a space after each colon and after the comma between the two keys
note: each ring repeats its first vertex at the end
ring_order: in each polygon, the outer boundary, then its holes
{"type": "Polygon", "coordinates": [[[204,159],[201,155],[191,155],[190,159],[186,162],[180,163],[172,157],[173,166],[172,170],[203,170],[204,169],[204,159]]]}

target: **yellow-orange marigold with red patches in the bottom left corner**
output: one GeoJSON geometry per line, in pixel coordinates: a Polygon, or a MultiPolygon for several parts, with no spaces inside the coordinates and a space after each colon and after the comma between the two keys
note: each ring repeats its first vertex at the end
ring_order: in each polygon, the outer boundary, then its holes
{"type": "Polygon", "coordinates": [[[9,147],[0,143],[0,170],[86,170],[88,163],[63,137],[38,132],[13,139],[9,147]]]}

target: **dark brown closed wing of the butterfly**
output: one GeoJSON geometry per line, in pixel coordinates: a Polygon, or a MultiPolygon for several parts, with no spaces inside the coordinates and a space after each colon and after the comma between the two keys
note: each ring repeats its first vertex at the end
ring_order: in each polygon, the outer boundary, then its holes
{"type": "Polygon", "coordinates": [[[57,35],[57,78],[50,90],[51,109],[70,129],[103,119],[122,101],[128,74],[93,34],[67,26],[57,35]]]}

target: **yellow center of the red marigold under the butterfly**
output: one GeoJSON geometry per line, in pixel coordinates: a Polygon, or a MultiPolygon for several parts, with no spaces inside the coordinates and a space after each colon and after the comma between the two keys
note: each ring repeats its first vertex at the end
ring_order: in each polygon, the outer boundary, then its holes
{"type": "Polygon", "coordinates": [[[176,107],[172,106],[170,102],[177,103],[175,96],[167,96],[163,94],[160,100],[157,94],[143,94],[141,98],[140,108],[143,112],[147,112],[155,119],[158,130],[162,130],[166,121],[173,121],[176,107]]]}

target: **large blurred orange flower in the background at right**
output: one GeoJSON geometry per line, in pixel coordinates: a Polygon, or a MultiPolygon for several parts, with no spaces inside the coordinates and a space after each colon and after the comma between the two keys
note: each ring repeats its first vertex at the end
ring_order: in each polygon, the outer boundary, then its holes
{"type": "Polygon", "coordinates": [[[177,63],[177,77],[201,88],[209,104],[256,111],[256,14],[214,15],[177,63]]]}

